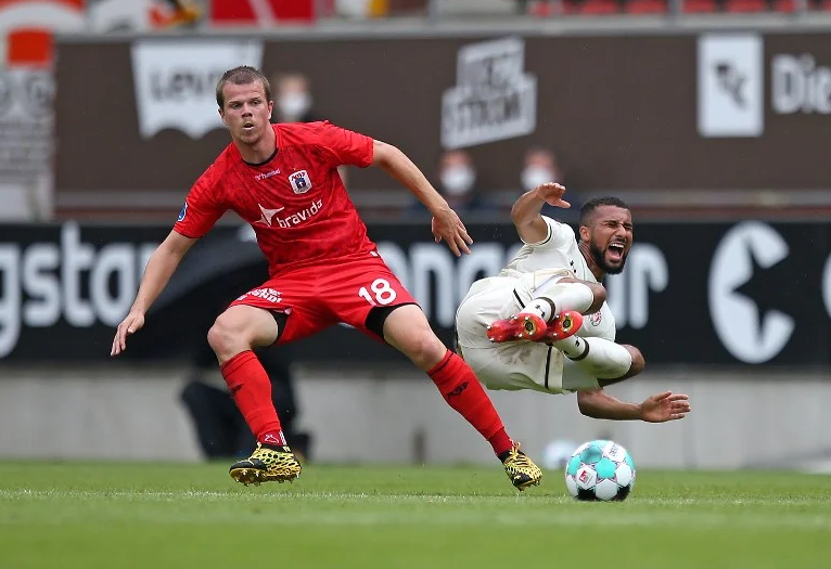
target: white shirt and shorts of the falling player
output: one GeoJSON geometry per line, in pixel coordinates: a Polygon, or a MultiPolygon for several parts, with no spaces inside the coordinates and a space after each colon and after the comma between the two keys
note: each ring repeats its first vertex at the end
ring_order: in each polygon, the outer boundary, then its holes
{"type": "MultiPolygon", "coordinates": [[[[534,389],[550,393],[592,389],[597,378],[551,346],[538,342],[491,344],[486,327],[495,320],[515,314],[534,297],[547,280],[575,276],[597,283],[579,251],[574,230],[551,218],[546,238],[525,243],[498,276],[473,283],[457,311],[459,349],[480,380],[489,389],[534,389]]],[[[614,341],[615,322],[604,302],[598,312],[588,314],[577,335],[614,341]]]]}

